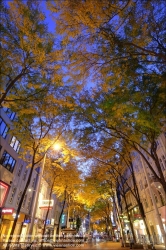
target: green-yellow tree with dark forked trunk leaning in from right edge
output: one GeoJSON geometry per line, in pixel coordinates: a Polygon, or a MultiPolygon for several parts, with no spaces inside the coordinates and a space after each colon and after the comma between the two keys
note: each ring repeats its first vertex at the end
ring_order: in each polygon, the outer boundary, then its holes
{"type": "Polygon", "coordinates": [[[166,191],[156,142],[165,121],[164,89],[155,77],[147,79],[146,86],[143,79],[138,85],[131,81],[122,89],[117,86],[101,92],[98,88],[92,93],[88,94],[86,91],[80,95],[80,99],[77,99],[79,108],[75,111],[75,135],[84,144],[83,147],[87,143],[89,147],[95,147],[95,141],[102,143],[104,138],[107,141],[113,140],[113,147],[118,147],[121,141],[125,141],[130,152],[137,151],[141,155],[166,191]],[[147,157],[156,165],[158,173],[147,157]]]}

